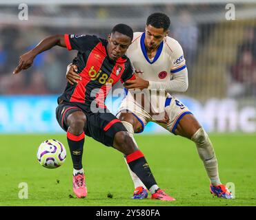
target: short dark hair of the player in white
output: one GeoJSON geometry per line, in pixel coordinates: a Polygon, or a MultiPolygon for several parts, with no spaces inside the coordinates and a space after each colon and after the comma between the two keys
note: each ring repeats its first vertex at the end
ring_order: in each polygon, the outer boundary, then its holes
{"type": "Polygon", "coordinates": [[[146,25],[151,25],[154,28],[164,28],[164,31],[166,31],[170,27],[170,19],[164,13],[156,12],[150,14],[147,19],[146,25]]]}

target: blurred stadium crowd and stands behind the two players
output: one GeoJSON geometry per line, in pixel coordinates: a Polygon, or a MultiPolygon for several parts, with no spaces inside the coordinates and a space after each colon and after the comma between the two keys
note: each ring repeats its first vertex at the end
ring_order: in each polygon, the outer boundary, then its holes
{"type": "MultiPolygon", "coordinates": [[[[239,8],[243,9],[244,7],[244,5],[240,5],[239,8]]],[[[202,83],[206,86],[211,85],[207,88],[208,97],[255,96],[255,18],[239,23],[239,28],[237,28],[235,21],[225,21],[224,10],[224,5],[213,4],[108,7],[90,5],[29,6],[29,19],[48,18],[52,19],[52,23],[46,22],[39,25],[28,23],[26,25],[28,21],[17,21],[17,23],[11,24],[3,22],[3,20],[0,22],[0,94],[60,94],[63,91],[66,85],[66,66],[75,57],[76,52],[74,51],[68,52],[68,50],[56,47],[50,52],[44,52],[37,56],[33,67],[26,73],[15,77],[12,75],[12,71],[18,64],[19,56],[37,45],[46,36],[68,33],[95,34],[106,38],[112,25],[122,21],[128,21],[128,25],[131,25],[134,31],[143,32],[146,18],[150,13],[165,12],[171,19],[170,36],[177,39],[184,49],[190,87],[193,87],[189,90],[192,96],[204,94],[204,90],[199,89],[202,83]],[[218,12],[222,13],[221,20],[218,19],[218,12]],[[210,19],[209,14],[215,16],[215,19],[210,19]],[[57,25],[55,19],[61,17],[67,20],[63,21],[62,19],[62,22],[57,25]],[[76,20],[76,18],[79,19],[76,20]],[[138,22],[134,23],[136,20],[138,22]],[[95,22],[95,25],[92,21],[95,22]],[[21,22],[23,22],[22,25],[20,25],[21,22]],[[224,28],[221,25],[224,25],[224,28]],[[229,43],[232,41],[233,43],[226,44],[227,48],[225,48],[219,43],[221,41],[229,43]],[[216,58],[212,58],[213,53],[216,58]],[[233,58],[226,61],[224,56],[233,58]],[[220,71],[219,65],[221,65],[220,71]],[[216,68],[211,68],[211,66],[216,66],[216,68]],[[215,81],[216,78],[217,81],[215,81]],[[216,82],[219,84],[217,88],[216,82]],[[209,88],[212,89],[209,90],[209,88]],[[220,91],[220,95],[217,91],[220,91]]],[[[0,5],[1,17],[4,14],[12,14],[17,19],[18,12],[17,7],[0,5]]]]}

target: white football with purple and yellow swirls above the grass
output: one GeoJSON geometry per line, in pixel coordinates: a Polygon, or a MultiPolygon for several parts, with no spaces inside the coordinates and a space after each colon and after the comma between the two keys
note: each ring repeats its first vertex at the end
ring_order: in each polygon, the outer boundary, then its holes
{"type": "Polygon", "coordinates": [[[57,168],[66,159],[66,148],[58,140],[46,140],[37,150],[37,159],[46,168],[57,168]]]}

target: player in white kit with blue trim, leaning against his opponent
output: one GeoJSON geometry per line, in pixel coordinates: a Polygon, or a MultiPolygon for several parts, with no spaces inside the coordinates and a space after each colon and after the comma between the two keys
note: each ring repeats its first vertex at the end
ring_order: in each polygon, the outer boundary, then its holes
{"type": "MultiPolygon", "coordinates": [[[[188,70],[181,45],[168,36],[169,26],[170,19],[166,14],[154,13],[147,19],[145,32],[133,34],[126,56],[137,77],[126,81],[126,97],[121,102],[117,118],[126,126],[134,142],[133,134],[141,133],[148,122],[156,122],[171,133],[195,142],[210,179],[210,192],[217,197],[232,199],[219,180],[217,158],[206,131],[188,107],[171,95],[188,89],[188,70]]],[[[66,78],[69,83],[79,80],[75,69],[74,65],[68,67],[66,78]]],[[[144,184],[129,166],[128,170],[135,184],[132,198],[148,197],[144,184]]]]}

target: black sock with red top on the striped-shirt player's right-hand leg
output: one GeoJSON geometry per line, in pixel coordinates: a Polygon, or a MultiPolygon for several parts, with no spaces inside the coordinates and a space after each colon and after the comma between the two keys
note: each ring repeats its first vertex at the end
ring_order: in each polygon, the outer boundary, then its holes
{"type": "Polygon", "coordinates": [[[135,151],[130,155],[126,155],[126,161],[137,177],[141,179],[148,190],[156,185],[155,177],[152,175],[151,170],[146,162],[146,159],[141,151],[135,151]]]}

